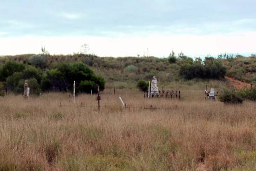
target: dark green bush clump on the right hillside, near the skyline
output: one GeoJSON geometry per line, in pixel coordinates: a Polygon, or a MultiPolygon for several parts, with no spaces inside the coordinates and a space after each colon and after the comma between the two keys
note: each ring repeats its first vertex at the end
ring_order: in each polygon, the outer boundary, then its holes
{"type": "Polygon", "coordinates": [[[185,58],[180,62],[180,76],[185,79],[193,78],[223,78],[227,73],[227,68],[222,64],[221,60],[213,57],[205,57],[204,61],[201,58],[185,58]]]}

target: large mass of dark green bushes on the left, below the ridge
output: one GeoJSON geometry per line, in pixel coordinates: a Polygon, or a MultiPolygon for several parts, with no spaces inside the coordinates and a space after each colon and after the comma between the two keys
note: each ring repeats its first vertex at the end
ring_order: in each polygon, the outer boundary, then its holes
{"type": "Polygon", "coordinates": [[[100,90],[105,88],[105,79],[96,75],[84,63],[56,63],[46,70],[42,69],[45,66],[41,62],[34,64],[35,66],[31,66],[7,60],[0,67],[0,82],[14,93],[23,93],[24,80],[28,79],[31,94],[40,94],[41,91],[69,91],[73,89],[74,80],[76,92],[89,93],[92,90],[95,93],[98,85],[100,90]]]}

